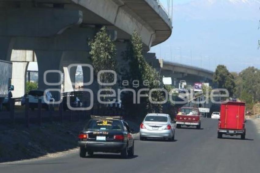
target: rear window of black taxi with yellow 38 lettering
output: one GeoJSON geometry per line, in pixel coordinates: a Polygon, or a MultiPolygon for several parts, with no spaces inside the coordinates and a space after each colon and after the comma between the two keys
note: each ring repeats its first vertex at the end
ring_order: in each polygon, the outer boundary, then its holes
{"type": "Polygon", "coordinates": [[[118,120],[90,120],[85,129],[122,131],[122,126],[118,120]]]}

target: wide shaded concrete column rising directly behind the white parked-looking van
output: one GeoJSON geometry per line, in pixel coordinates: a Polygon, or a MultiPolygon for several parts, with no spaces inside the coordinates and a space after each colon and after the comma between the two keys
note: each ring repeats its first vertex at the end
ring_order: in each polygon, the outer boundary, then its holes
{"type": "MultiPolygon", "coordinates": [[[[35,51],[39,69],[39,89],[61,89],[61,58],[63,51],[35,51]],[[48,72],[46,81],[44,81],[44,73],[48,70],[56,70],[56,72],[48,72]],[[55,84],[56,83],[56,84],[55,84]]],[[[55,97],[55,101],[60,100],[60,94],[56,91],[51,91],[55,97]]]]}

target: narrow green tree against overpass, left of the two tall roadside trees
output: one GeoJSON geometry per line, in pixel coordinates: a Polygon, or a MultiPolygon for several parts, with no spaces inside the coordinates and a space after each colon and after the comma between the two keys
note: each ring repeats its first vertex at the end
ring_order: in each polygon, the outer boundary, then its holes
{"type": "MultiPolygon", "coordinates": [[[[116,46],[107,34],[106,27],[102,27],[89,43],[91,47],[90,55],[94,72],[97,75],[101,70],[117,71],[116,46]]],[[[109,83],[113,81],[112,73],[102,73],[100,81],[109,83]]]]}

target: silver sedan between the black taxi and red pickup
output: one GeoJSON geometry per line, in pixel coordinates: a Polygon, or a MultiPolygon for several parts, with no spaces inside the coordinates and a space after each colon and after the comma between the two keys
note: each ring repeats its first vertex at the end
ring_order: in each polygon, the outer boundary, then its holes
{"type": "Polygon", "coordinates": [[[169,114],[149,113],[140,125],[140,140],[162,138],[174,140],[175,127],[169,114]]]}

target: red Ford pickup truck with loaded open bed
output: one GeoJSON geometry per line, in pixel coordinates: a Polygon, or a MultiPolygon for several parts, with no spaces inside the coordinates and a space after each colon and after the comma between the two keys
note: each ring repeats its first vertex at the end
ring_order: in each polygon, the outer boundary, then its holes
{"type": "Polygon", "coordinates": [[[200,129],[200,112],[198,108],[182,107],[176,115],[176,128],[181,125],[196,126],[200,129]]]}

